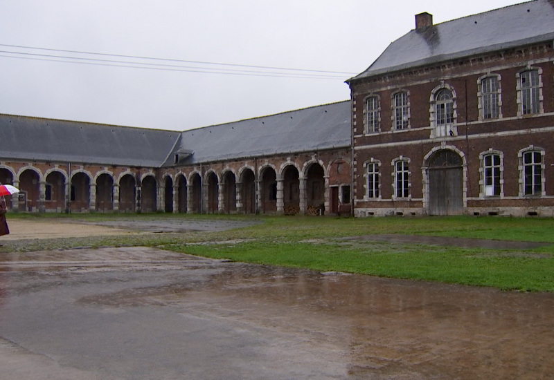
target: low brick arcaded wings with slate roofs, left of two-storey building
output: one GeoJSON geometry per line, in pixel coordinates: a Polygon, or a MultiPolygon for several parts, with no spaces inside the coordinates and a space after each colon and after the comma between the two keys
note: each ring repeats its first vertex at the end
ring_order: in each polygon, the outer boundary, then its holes
{"type": "Polygon", "coordinates": [[[350,213],[350,102],[190,131],[0,115],[19,211],[350,213]]]}

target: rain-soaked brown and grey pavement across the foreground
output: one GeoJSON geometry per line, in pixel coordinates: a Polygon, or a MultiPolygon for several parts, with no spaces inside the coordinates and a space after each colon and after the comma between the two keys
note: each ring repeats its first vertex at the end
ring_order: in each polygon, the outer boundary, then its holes
{"type": "Polygon", "coordinates": [[[145,247],[0,256],[1,379],[546,379],[554,294],[145,247]]]}

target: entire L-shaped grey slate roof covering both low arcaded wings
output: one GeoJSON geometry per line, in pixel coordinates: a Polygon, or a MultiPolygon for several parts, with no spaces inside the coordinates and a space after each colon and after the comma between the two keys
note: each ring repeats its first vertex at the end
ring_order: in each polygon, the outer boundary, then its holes
{"type": "Polygon", "coordinates": [[[190,131],[0,115],[0,160],[163,167],[350,146],[350,101],[190,131]]]}

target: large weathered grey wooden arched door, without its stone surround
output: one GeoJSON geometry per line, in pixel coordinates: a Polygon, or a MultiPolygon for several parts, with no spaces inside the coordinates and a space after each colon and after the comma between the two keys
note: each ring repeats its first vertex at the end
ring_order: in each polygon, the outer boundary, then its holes
{"type": "Polygon", "coordinates": [[[439,151],[429,160],[429,215],[463,212],[463,167],[453,151],[439,151]]]}

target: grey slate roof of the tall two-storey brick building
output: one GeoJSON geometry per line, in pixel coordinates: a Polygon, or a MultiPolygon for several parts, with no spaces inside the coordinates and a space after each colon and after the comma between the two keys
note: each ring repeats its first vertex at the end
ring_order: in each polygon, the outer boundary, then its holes
{"type": "Polygon", "coordinates": [[[347,82],[553,39],[554,1],[528,1],[411,30],[347,82]]]}

